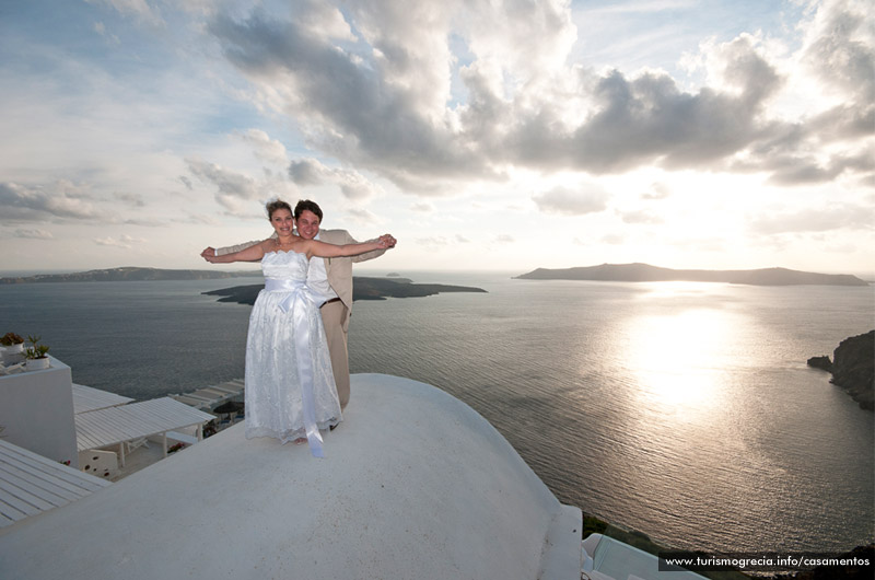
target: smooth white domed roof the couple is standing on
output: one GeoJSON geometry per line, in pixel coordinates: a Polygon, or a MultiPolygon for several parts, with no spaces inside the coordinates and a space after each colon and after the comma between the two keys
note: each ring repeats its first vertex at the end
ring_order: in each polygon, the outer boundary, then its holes
{"type": "Polygon", "coordinates": [[[352,376],[307,445],[244,425],[0,534],[10,578],[576,580],[581,512],[433,386],[352,376]]]}

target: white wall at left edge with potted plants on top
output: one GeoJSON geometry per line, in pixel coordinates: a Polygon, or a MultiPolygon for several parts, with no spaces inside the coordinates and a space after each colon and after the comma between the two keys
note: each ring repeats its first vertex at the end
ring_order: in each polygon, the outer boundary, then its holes
{"type": "Polygon", "coordinates": [[[4,441],[79,468],[70,367],[0,376],[0,437],[4,441]]]}

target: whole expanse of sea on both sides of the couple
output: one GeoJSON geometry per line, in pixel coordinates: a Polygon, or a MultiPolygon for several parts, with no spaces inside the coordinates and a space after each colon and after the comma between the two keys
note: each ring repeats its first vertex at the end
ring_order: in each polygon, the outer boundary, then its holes
{"type": "MultiPolygon", "coordinates": [[[[487,292],[357,301],[351,371],[458,397],[561,502],[681,549],[875,538],[874,415],[806,364],[875,328],[875,287],[400,274],[487,292]]],[[[0,285],[0,334],[39,336],[79,384],[184,393],[244,375],[250,306],[203,292],[260,282],[0,285]]]]}

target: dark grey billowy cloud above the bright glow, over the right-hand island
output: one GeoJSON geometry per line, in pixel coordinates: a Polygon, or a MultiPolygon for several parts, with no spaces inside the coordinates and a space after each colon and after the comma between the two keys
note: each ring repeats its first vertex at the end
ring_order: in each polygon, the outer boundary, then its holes
{"type": "Polygon", "coordinates": [[[773,69],[739,38],[721,53],[723,91],[682,92],[670,77],[645,72],[629,79],[612,71],[594,82],[594,115],[541,154],[594,173],[640,165],[669,169],[720,163],[761,138],[765,100],[778,86],[773,69]]]}

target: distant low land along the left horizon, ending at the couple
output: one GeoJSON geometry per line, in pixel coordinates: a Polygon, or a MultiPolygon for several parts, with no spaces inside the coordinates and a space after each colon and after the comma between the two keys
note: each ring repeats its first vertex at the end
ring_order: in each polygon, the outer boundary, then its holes
{"type": "Polygon", "coordinates": [[[161,268],[139,268],[122,266],[100,270],[78,271],[72,274],[37,274],[0,278],[0,283],[38,283],[38,282],[129,282],[155,280],[217,280],[223,278],[260,277],[259,270],[219,271],[219,270],[166,270],[161,268]]]}

